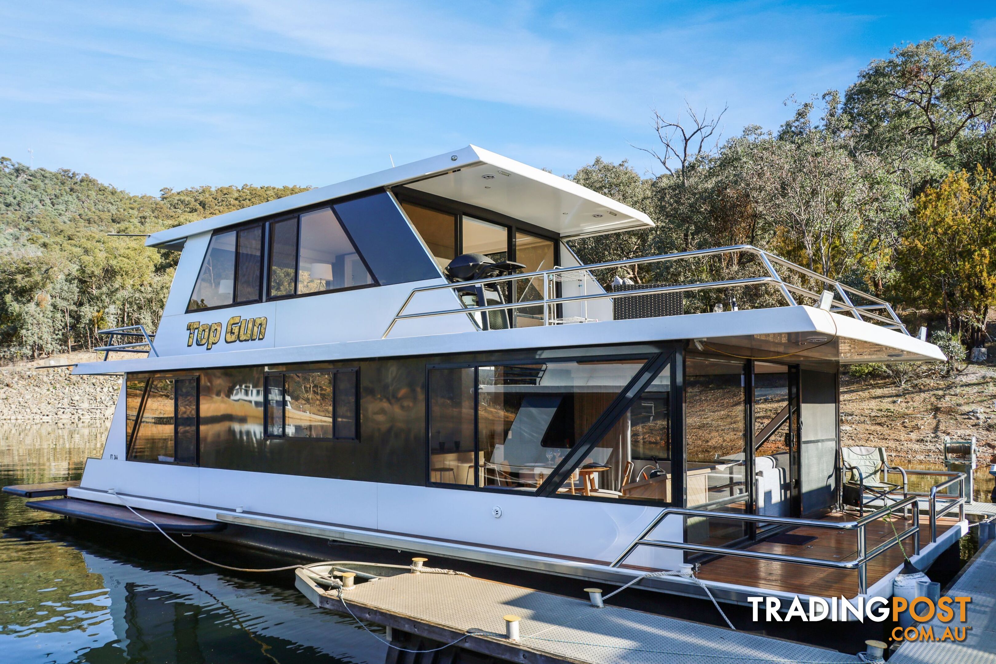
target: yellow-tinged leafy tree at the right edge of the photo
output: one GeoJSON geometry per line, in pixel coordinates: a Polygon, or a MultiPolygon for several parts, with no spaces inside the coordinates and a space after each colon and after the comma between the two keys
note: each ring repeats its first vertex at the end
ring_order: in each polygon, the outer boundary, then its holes
{"type": "Polygon", "coordinates": [[[897,254],[900,294],[918,310],[943,311],[946,329],[977,342],[996,302],[996,182],[981,166],[948,175],[917,197],[897,254]]]}

